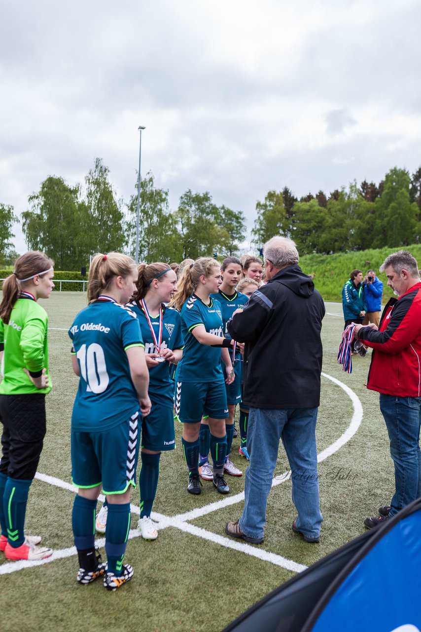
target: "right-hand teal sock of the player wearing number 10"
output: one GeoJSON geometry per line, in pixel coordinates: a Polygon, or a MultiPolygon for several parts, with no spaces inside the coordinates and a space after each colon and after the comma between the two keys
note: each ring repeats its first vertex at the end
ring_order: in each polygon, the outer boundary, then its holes
{"type": "Polygon", "coordinates": [[[121,575],[127,538],[130,530],[130,503],[115,505],[109,502],[105,530],[107,572],[121,575]]]}

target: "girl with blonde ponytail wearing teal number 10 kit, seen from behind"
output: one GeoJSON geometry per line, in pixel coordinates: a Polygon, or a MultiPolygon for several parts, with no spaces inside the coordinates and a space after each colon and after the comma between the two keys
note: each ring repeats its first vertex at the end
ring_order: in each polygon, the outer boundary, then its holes
{"type": "Polygon", "coordinates": [[[122,564],[130,523],[130,490],[136,487],[141,415],[147,416],[148,368],[139,322],[124,307],[136,291],[133,259],[118,252],[93,257],[89,270],[89,305],[69,330],[72,364],[80,376],[71,420],[72,480],[79,488],[73,505],[74,544],[80,569],[76,580],[87,584],[104,576],[116,590],[133,576],[122,564]],[[107,529],[102,562],[95,549],[97,499],[107,497],[107,529]]]}

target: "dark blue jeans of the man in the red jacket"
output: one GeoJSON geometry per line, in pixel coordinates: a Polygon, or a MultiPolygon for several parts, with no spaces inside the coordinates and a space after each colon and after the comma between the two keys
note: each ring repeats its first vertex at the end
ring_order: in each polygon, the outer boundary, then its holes
{"type": "Polygon", "coordinates": [[[380,394],[394,462],[395,492],[389,516],[421,496],[421,398],[380,394]]]}

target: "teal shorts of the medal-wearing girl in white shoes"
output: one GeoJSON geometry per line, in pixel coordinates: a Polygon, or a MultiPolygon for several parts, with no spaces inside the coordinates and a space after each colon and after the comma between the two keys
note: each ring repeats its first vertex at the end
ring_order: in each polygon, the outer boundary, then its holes
{"type": "Polygon", "coordinates": [[[172,408],[162,406],[152,398],[151,403],[149,415],[143,417],[142,420],[141,447],[156,452],[174,450],[175,433],[172,408]]]}

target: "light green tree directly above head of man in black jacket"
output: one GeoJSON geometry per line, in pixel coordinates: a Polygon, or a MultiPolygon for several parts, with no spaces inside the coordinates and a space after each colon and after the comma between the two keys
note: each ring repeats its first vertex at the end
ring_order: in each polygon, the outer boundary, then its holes
{"type": "Polygon", "coordinates": [[[290,234],[290,218],[283,204],[282,193],[268,191],[264,202],[257,202],[256,212],[257,217],[251,231],[256,246],[263,246],[274,235],[288,236],[290,234]]]}

